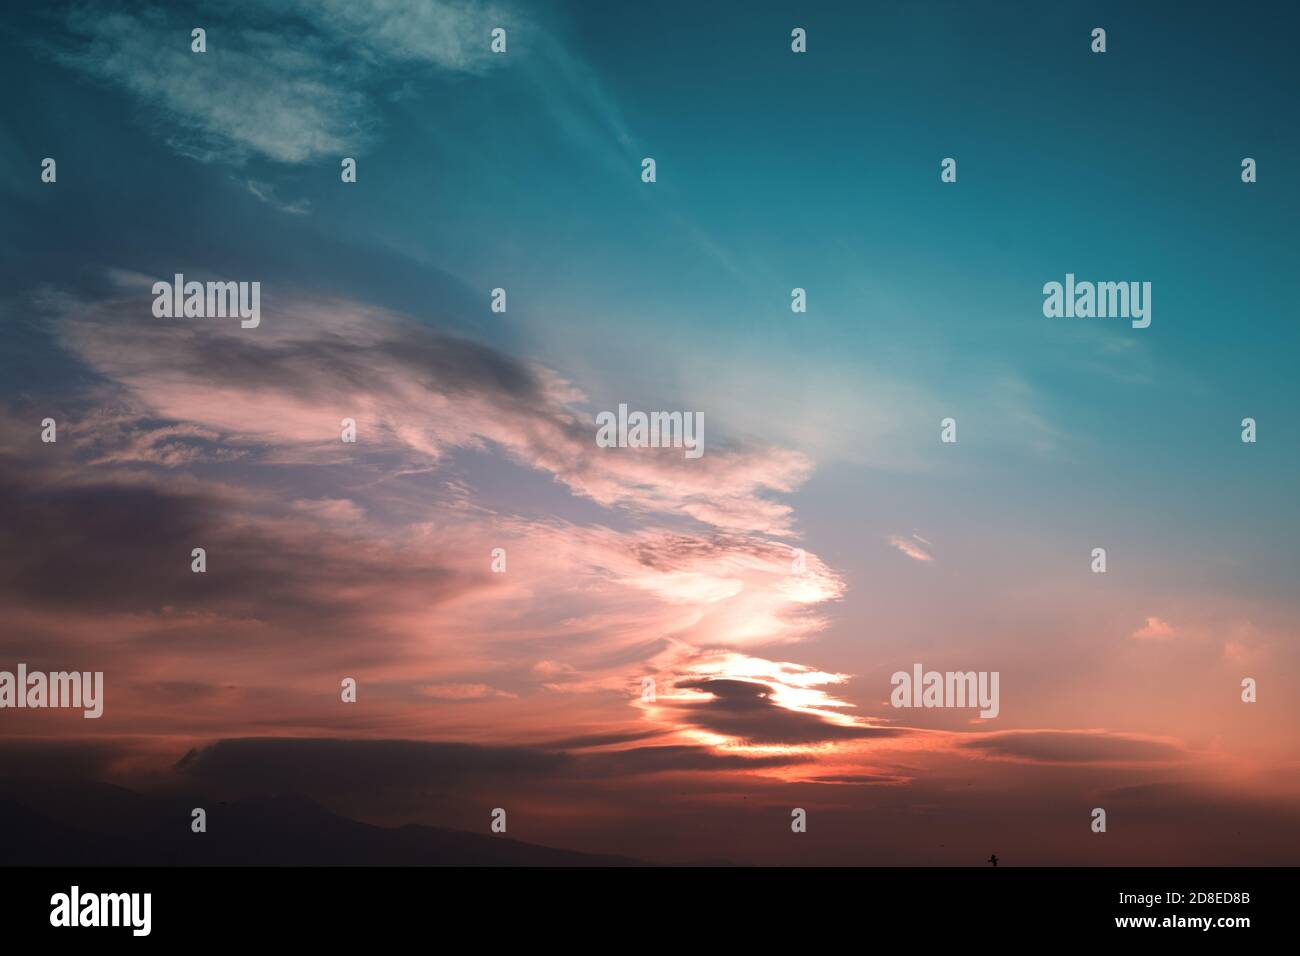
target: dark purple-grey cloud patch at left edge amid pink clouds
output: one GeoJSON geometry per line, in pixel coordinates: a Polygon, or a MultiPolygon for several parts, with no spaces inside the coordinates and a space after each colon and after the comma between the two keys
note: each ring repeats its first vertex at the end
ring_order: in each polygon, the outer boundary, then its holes
{"type": "MultiPolygon", "coordinates": [[[[355,557],[351,536],[311,514],[239,514],[217,485],[182,488],[121,483],[99,473],[46,483],[42,472],[0,455],[0,593],[64,611],[153,611],[183,606],[259,620],[317,622],[351,615],[376,589],[395,600],[398,584],[424,601],[458,576],[400,544],[355,557]],[[40,540],[42,548],[23,542],[40,540]],[[191,572],[191,549],[208,568],[191,572]],[[352,609],[352,610],[350,610],[352,609]]],[[[48,476],[47,476],[48,480],[48,476]]]]}

